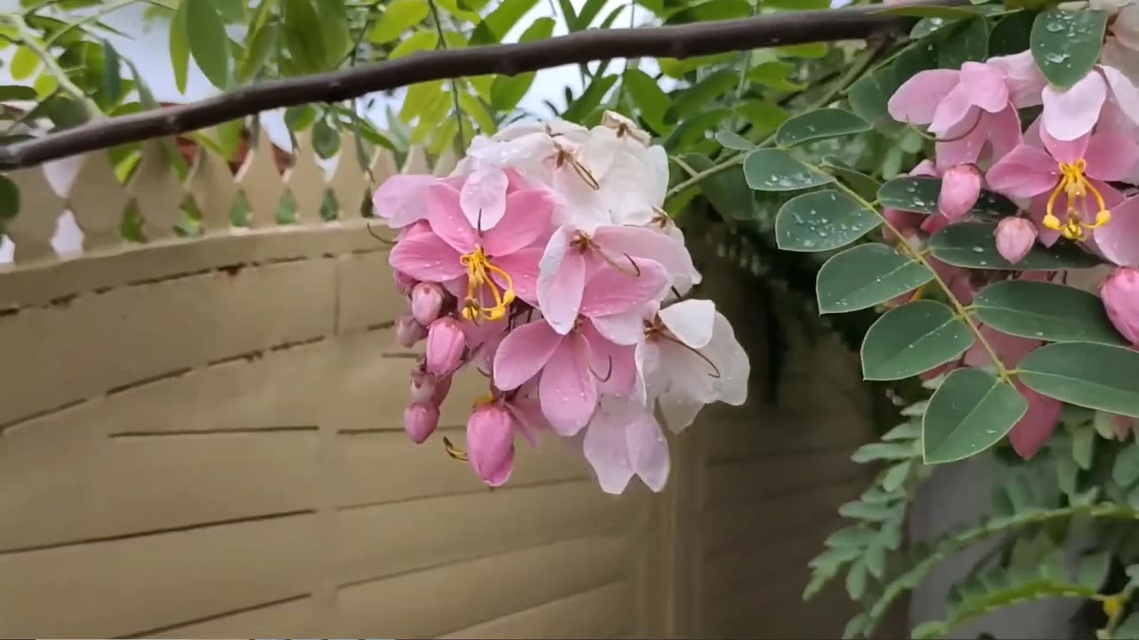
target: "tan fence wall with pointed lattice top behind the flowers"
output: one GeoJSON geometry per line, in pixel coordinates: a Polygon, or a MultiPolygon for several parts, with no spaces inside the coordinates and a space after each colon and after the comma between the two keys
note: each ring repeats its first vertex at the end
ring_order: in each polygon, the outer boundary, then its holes
{"type": "MultiPolygon", "coordinates": [[[[182,182],[153,145],[125,187],[91,155],[63,195],[40,170],[11,175],[24,204],[0,271],[0,634],[841,630],[845,610],[808,613],[798,596],[867,479],[846,460],[872,437],[849,354],[797,339],[788,392],[765,404],[754,300],[713,262],[706,294],[757,363],[754,388],[673,440],[667,490],[606,495],[580,452],[546,438],[487,491],[439,435],[417,446],[402,432],[413,354],[394,340],[403,302],[357,213],[354,155],[345,139],[326,175],[302,146],[280,175],[262,141],[236,178],[203,155],[182,182]],[[296,222],[277,225],[286,191],[296,222]],[[239,192],[247,228],[232,225],[239,192]],[[190,237],[174,231],[187,196],[202,212],[190,237]],[[318,215],[329,202],[339,221],[318,215]],[[122,239],[132,207],[146,243],[122,239]],[[62,259],[65,211],[83,251],[62,259]]],[[[419,154],[404,167],[425,169],[419,154]]],[[[394,161],[371,170],[383,180],[394,161]]],[[[462,440],[484,384],[457,381],[444,434],[462,440]]]]}

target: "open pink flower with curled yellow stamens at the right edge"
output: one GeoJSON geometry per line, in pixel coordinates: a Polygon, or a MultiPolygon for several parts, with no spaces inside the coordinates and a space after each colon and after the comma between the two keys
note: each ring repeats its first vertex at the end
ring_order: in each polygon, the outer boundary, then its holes
{"type": "Polygon", "coordinates": [[[1030,128],[1022,145],[989,170],[989,187],[1011,198],[1032,198],[1031,214],[1043,228],[1041,241],[1051,246],[1059,236],[1090,238],[1106,257],[1118,262],[1139,255],[1139,237],[1131,221],[1108,224],[1111,207],[1123,196],[1106,182],[1120,180],[1139,159],[1139,147],[1112,131],[1097,131],[1072,141],[1052,138],[1040,126],[1030,128]]]}

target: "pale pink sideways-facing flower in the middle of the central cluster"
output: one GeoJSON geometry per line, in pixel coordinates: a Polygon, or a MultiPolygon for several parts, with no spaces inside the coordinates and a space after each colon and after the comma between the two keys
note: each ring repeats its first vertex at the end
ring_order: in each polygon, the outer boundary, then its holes
{"type": "MultiPolygon", "coordinates": [[[[592,282],[600,273],[607,274],[608,290],[595,292],[590,317],[633,311],[663,295],[671,284],[669,276],[698,276],[683,245],[655,229],[601,227],[585,233],[562,227],[546,246],[538,276],[539,306],[559,334],[573,328],[579,313],[585,314],[587,280],[592,282]],[[603,295],[604,306],[598,306],[603,295]]],[[[640,317],[634,314],[625,328],[639,322],[640,317]]]]}

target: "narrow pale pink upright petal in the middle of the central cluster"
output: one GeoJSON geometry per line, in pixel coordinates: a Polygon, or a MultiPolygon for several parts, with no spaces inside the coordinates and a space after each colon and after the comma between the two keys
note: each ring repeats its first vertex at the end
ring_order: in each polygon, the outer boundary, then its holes
{"type": "Polygon", "coordinates": [[[538,266],[538,305],[562,335],[573,329],[585,288],[585,259],[570,246],[573,232],[565,227],[555,231],[538,266]]]}

